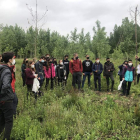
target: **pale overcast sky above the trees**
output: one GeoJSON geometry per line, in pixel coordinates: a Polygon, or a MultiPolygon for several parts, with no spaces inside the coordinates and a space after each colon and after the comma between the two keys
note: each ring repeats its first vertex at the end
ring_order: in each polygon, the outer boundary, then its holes
{"type": "MultiPolygon", "coordinates": [[[[26,4],[35,12],[35,3],[36,0],[0,0],[0,23],[17,23],[24,29],[29,28],[27,19],[32,24],[32,17],[26,4]]],[[[123,18],[130,17],[129,8],[134,9],[137,4],[138,0],[38,0],[38,16],[43,15],[47,6],[43,28],[58,31],[61,35],[69,34],[75,27],[78,32],[84,28],[85,33],[92,35],[97,20],[109,34],[115,24],[120,25],[123,18]]]]}

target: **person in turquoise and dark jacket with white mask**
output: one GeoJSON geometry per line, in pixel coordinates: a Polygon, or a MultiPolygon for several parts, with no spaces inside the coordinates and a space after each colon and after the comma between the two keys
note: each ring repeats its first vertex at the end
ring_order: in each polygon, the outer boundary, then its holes
{"type": "Polygon", "coordinates": [[[135,68],[133,67],[132,60],[129,60],[128,66],[124,67],[123,74],[122,74],[122,78],[124,80],[122,83],[123,95],[126,95],[126,96],[129,95],[131,84],[135,78],[134,74],[135,74],[135,68]],[[128,87],[127,87],[127,83],[128,83],[128,87]],[[127,90],[126,90],[126,87],[127,87],[127,90]]]}

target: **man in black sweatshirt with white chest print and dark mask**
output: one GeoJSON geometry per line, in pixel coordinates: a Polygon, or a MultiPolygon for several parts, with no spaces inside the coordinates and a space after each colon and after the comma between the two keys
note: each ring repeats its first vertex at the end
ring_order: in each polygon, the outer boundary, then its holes
{"type": "Polygon", "coordinates": [[[86,77],[88,76],[88,87],[90,87],[90,77],[92,75],[92,64],[93,62],[89,59],[89,55],[86,55],[86,60],[83,61],[83,81],[82,81],[82,88],[84,87],[84,83],[86,77]]]}

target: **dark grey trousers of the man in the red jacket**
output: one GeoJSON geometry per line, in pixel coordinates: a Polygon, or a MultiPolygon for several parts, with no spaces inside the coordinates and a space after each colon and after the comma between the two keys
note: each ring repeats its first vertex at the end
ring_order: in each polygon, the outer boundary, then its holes
{"type": "Polygon", "coordinates": [[[76,84],[78,84],[78,89],[80,89],[81,88],[82,73],[81,72],[74,72],[72,77],[73,77],[72,86],[75,88],[76,84]]]}

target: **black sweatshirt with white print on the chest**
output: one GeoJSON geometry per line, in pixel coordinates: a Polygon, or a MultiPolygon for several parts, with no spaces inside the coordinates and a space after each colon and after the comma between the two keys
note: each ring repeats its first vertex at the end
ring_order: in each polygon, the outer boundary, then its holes
{"type": "Polygon", "coordinates": [[[83,61],[83,73],[84,72],[92,72],[92,64],[93,62],[91,60],[85,60],[83,61]]]}

